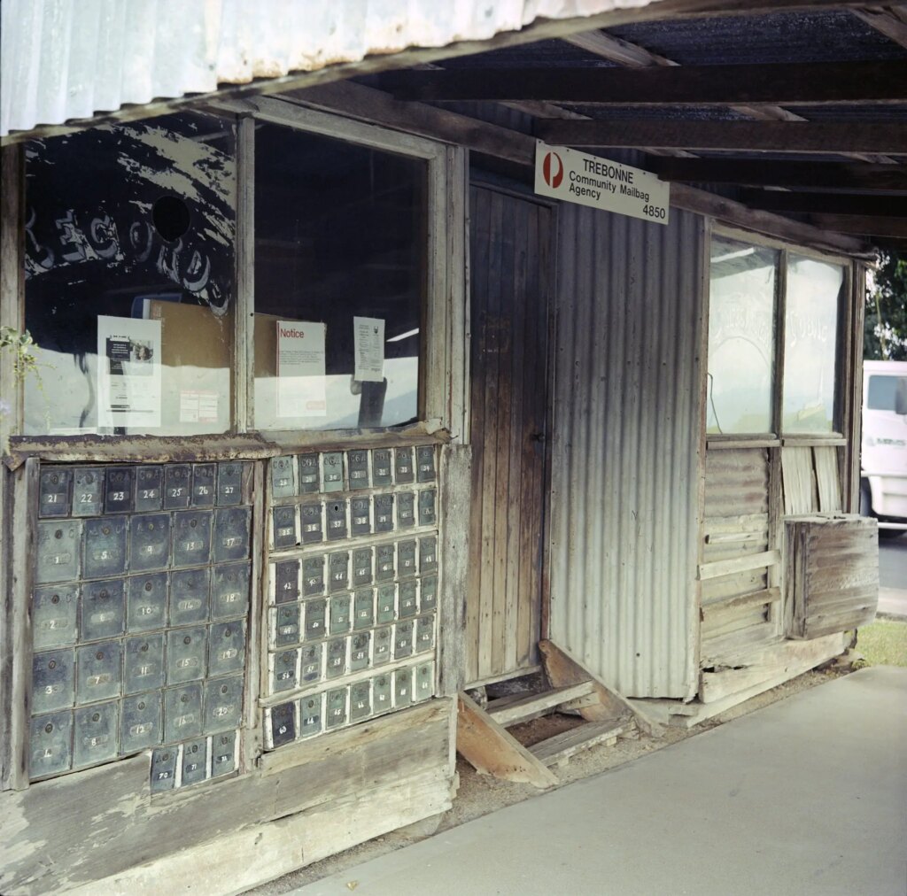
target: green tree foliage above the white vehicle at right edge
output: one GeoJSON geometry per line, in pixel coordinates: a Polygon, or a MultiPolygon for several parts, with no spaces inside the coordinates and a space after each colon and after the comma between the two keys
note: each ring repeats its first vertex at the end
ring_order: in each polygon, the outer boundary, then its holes
{"type": "Polygon", "coordinates": [[[879,253],[866,291],[863,357],[907,361],[907,256],[902,253],[879,253]]]}

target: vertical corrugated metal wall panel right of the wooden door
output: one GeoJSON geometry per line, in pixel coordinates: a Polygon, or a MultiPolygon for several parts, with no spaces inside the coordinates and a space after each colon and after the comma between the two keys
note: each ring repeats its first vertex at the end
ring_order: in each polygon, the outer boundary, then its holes
{"type": "Polygon", "coordinates": [[[625,695],[690,697],[703,222],[560,215],[551,638],[625,695]]]}

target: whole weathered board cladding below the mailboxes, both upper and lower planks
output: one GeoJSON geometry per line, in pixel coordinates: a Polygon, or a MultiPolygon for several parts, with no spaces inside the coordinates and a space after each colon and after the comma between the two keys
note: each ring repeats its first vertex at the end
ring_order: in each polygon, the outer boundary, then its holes
{"type": "Polygon", "coordinates": [[[241,892],[444,812],[453,709],[449,698],[431,700],[269,754],[253,774],[171,799],[151,794],[150,752],[7,791],[0,892],[161,893],[188,881],[199,892],[241,892]],[[292,849],[279,836],[288,827],[292,849]]]}

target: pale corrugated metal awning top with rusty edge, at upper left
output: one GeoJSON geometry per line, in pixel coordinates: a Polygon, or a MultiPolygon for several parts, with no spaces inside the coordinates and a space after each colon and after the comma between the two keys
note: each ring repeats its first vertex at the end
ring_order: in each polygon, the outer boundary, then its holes
{"type": "Polygon", "coordinates": [[[0,135],[649,0],[4,0],[0,135]]]}

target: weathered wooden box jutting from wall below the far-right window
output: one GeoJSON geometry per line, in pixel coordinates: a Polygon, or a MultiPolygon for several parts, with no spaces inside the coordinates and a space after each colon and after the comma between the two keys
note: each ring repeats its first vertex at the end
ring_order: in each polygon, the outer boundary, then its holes
{"type": "Polygon", "coordinates": [[[871,622],[879,600],[875,520],[855,515],[785,520],[785,634],[819,638],[871,622]]]}

